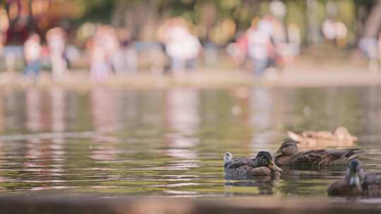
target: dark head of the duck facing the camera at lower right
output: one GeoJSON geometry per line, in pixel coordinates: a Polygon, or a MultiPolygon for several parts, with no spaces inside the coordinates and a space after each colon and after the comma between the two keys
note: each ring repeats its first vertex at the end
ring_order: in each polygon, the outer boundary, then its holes
{"type": "Polygon", "coordinates": [[[351,160],[346,168],[346,181],[349,182],[350,187],[356,187],[357,189],[362,189],[362,184],[364,180],[364,172],[361,168],[360,161],[354,159],[351,160]]]}

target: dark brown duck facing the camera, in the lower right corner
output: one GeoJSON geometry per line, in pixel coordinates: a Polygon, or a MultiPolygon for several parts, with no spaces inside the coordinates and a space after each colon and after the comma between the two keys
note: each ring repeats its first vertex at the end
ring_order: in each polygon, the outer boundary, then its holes
{"type": "Polygon", "coordinates": [[[351,160],[343,179],[328,187],[329,196],[381,196],[381,174],[365,173],[358,160],[351,160]]]}

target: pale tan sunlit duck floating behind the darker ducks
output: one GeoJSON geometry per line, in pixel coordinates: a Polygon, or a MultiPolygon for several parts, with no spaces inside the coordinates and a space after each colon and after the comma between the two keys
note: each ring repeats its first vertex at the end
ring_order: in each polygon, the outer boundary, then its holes
{"type": "Polygon", "coordinates": [[[338,127],[334,132],[327,131],[306,131],[301,133],[295,133],[288,131],[287,135],[294,141],[298,141],[301,147],[306,148],[326,148],[332,146],[353,146],[353,143],[357,141],[357,137],[354,137],[349,133],[346,127],[338,127]]]}

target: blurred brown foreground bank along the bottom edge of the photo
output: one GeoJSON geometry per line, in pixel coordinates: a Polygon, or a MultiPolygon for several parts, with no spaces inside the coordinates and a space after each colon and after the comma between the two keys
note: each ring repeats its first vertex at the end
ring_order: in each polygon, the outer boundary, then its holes
{"type": "Polygon", "coordinates": [[[229,199],[169,199],[100,196],[11,196],[0,200],[1,213],[380,213],[377,204],[327,199],[277,199],[270,196],[229,199]]]}

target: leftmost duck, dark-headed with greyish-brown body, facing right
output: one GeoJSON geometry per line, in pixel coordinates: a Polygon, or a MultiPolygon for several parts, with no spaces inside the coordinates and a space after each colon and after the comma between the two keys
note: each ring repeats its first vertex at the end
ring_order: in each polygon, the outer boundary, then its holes
{"type": "Polygon", "coordinates": [[[282,169],[274,163],[271,153],[258,152],[255,158],[233,158],[233,154],[224,155],[224,177],[228,180],[248,180],[253,177],[279,177],[282,169]]]}

